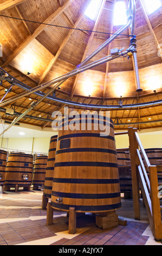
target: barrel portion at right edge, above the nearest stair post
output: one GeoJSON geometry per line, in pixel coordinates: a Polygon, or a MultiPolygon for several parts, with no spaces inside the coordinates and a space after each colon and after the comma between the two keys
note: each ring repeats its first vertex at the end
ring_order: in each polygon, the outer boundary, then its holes
{"type": "Polygon", "coordinates": [[[145,149],[148,160],[152,165],[162,164],[162,149],[161,148],[149,148],[145,149]]]}

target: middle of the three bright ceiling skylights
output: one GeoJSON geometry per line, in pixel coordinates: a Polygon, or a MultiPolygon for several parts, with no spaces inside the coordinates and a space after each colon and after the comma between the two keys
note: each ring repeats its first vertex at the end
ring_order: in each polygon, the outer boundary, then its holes
{"type": "Polygon", "coordinates": [[[126,5],[125,1],[118,1],[114,8],[114,26],[120,26],[127,23],[126,5]]]}

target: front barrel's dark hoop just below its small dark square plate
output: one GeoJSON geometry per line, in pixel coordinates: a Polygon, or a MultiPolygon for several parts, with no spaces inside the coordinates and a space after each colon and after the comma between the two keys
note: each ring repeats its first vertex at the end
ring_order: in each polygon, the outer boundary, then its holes
{"type": "Polygon", "coordinates": [[[62,150],[57,150],[57,154],[62,154],[62,153],[71,153],[71,152],[102,152],[102,153],[111,153],[116,155],[115,150],[111,149],[101,149],[101,148],[72,148],[72,149],[62,149],[62,150]]]}

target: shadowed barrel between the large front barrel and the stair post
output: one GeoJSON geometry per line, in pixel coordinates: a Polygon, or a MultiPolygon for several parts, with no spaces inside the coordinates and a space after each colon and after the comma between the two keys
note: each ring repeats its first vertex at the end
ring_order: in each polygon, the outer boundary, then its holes
{"type": "Polygon", "coordinates": [[[131,176],[131,159],[129,151],[125,149],[116,149],[120,191],[124,193],[125,198],[132,198],[132,176],[131,176]]]}

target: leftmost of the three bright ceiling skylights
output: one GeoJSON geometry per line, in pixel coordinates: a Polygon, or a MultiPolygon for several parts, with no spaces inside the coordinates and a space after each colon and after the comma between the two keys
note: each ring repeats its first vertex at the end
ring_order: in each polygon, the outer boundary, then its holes
{"type": "Polygon", "coordinates": [[[98,15],[99,9],[101,7],[102,0],[91,0],[88,5],[85,15],[89,17],[91,20],[95,21],[96,16],[98,15]]]}

